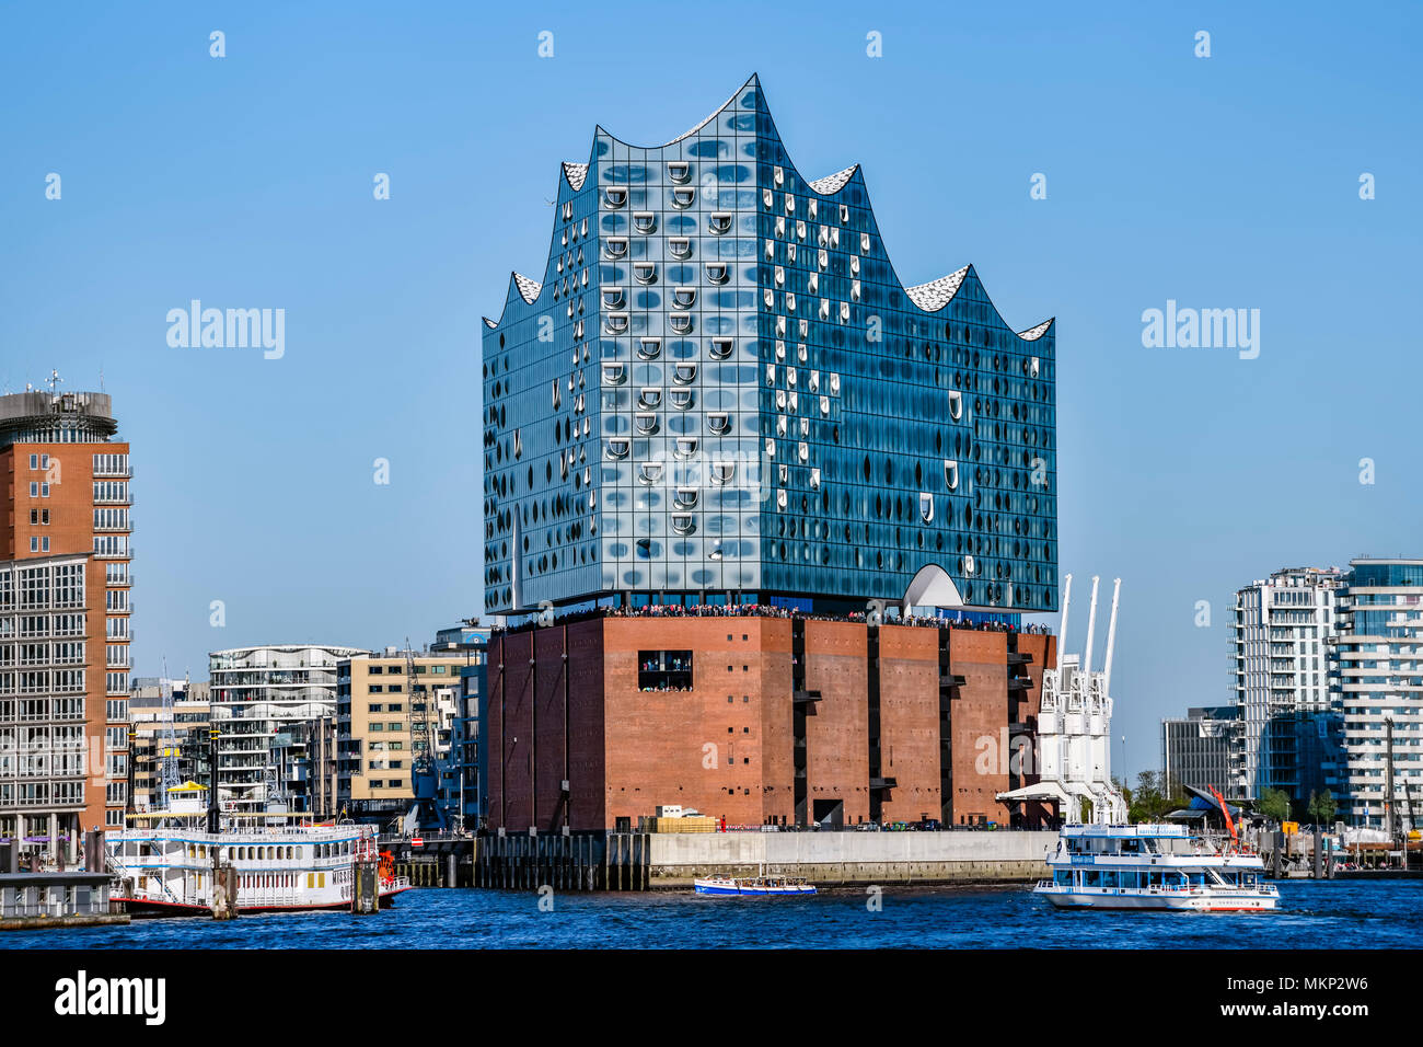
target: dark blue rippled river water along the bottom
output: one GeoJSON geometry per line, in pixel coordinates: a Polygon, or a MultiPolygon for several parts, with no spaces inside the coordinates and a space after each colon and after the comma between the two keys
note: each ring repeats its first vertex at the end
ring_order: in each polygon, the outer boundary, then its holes
{"type": "Polygon", "coordinates": [[[1029,887],[804,899],[410,890],[377,916],[292,913],[9,932],[0,949],[1402,949],[1423,944],[1423,880],[1279,885],[1275,913],[1093,913],[1029,887]]]}

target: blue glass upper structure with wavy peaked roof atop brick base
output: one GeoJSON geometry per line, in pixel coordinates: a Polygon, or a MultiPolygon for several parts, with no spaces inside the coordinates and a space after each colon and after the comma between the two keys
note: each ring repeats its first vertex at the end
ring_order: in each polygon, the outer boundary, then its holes
{"type": "Polygon", "coordinates": [[[902,285],[756,77],[666,145],[599,127],[554,217],[485,321],[487,611],[1057,608],[1053,322],[902,285]]]}

